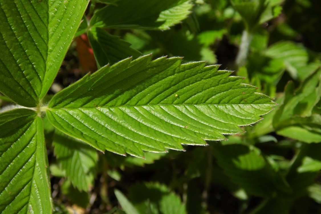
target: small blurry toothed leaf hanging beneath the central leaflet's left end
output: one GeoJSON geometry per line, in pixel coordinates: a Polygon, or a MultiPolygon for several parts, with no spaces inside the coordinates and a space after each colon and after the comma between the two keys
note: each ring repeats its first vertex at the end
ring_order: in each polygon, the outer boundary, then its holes
{"type": "Polygon", "coordinates": [[[98,155],[96,149],[56,130],[53,145],[57,162],[65,176],[79,190],[87,192],[94,181],[98,155]]]}

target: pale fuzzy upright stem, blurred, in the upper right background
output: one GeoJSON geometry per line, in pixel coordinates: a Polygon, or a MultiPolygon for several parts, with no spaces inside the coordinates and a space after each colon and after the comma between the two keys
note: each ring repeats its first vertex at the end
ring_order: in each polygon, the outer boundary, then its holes
{"type": "Polygon", "coordinates": [[[244,30],[241,38],[239,53],[236,56],[236,64],[238,67],[243,66],[247,61],[248,50],[252,41],[253,35],[251,32],[244,30]]]}

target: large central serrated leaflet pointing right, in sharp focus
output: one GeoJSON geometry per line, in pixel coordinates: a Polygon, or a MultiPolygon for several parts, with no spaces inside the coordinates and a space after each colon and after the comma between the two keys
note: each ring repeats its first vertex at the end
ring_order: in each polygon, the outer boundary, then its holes
{"type": "Polygon", "coordinates": [[[84,76],[52,98],[49,121],[97,149],[143,156],[143,150],[225,139],[275,105],[218,66],[181,64],[178,57],[150,60],[127,58],[84,76]]]}

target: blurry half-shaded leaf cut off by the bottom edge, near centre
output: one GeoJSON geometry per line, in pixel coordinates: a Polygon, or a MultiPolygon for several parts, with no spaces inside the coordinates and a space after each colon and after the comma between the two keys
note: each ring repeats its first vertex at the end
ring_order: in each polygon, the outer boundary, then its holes
{"type": "Polygon", "coordinates": [[[130,188],[129,198],[140,213],[186,214],[185,204],[163,184],[136,184],[130,188]]]}

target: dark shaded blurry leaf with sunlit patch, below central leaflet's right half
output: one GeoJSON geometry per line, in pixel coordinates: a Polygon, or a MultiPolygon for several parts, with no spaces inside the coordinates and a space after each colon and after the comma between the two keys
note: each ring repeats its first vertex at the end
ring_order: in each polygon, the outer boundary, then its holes
{"type": "Polygon", "coordinates": [[[273,170],[258,148],[240,144],[222,146],[220,143],[212,146],[224,173],[250,194],[271,197],[277,192],[291,192],[289,185],[273,170]]]}

